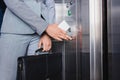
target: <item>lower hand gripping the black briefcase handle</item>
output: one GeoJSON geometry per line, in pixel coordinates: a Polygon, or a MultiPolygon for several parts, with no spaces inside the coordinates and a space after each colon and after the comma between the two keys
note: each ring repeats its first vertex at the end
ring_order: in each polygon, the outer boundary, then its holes
{"type": "Polygon", "coordinates": [[[52,46],[52,41],[50,37],[47,34],[43,34],[40,38],[40,41],[38,43],[38,47],[43,47],[43,51],[49,51],[52,46]]]}

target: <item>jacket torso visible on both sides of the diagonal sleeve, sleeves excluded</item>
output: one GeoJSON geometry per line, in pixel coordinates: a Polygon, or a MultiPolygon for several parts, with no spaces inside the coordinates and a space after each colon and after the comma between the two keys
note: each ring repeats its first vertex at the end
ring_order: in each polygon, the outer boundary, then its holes
{"type": "MultiPolygon", "coordinates": [[[[24,0],[23,2],[32,10],[32,12],[41,17],[41,0],[24,0]]],[[[23,11],[23,13],[24,12],[25,11],[23,11]]],[[[30,25],[26,24],[7,8],[4,14],[1,33],[33,34],[35,31],[30,25]]]]}

